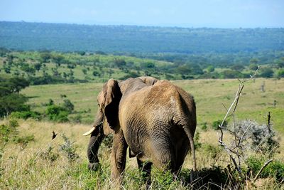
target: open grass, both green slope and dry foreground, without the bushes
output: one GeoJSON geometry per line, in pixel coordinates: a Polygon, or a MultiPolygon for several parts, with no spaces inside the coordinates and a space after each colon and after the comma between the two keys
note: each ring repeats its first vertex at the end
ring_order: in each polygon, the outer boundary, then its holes
{"type": "MultiPolygon", "coordinates": [[[[197,132],[200,133],[199,142],[202,144],[202,148],[197,149],[198,169],[226,166],[229,160],[224,152],[217,151],[218,156],[215,157],[212,152],[206,152],[204,149],[208,147],[208,144],[214,147],[218,145],[217,131],[210,126],[215,120],[222,120],[226,114],[224,106],[229,107],[234,100],[238,80],[180,80],[173,83],[192,93],[197,102],[197,132]],[[201,130],[205,122],[208,129],[201,130]]],[[[0,167],[0,189],[119,189],[118,186],[113,186],[109,179],[110,148],[107,144],[103,144],[99,152],[101,169],[92,172],[87,170],[86,150],[89,137],[83,137],[82,134],[89,130],[89,124],[94,120],[95,112],[97,112],[97,94],[101,88],[102,83],[84,83],[31,86],[23,90],[21,93],[31,97],[28,103],[40,112],[45,110],[43,103],[48,102],[50,98],[60,103],[62,102],[60,95],[67,95],[67,98],[74,103],[75,110],[82,112],[84,123],[18,120],[18,135],[34,136],[27,143],[20,141],[5,144],[1,152],[3,157],[0,167]],[[90,112],[86,111],[88,109],[91,109],[90,112]],[[53,130],[58,133],[58,136],[51,140],[53,130]],[[67,140],[62,137],[63,134],[67,140]],[[71,150],[62,148],[67,147],[68,144],[72,147],[71,150]],[[75,159],[70,159],[68,152],[75,153],[77,155],[75,159]]],[[[256,120],[262,124],[266,123],[269,111],[273,127],[280,137],[284,134],[284,80],[258,78],[246,83],[237,108],[237,119],[256,120]],[[263,82],[265,92],[260,90],[263,82]],[[274,100],[276,100],[275,107],[274,100]]],[[[0,125],[8,125],[7,123],[9,124],[8,120],[0,121],[0,125]]],[[[227,134],[225,135],[228,137],[227,134]]],[[[215,149],[218,150],[218,148],[215,149]]],[[[277,154],[276,158],[282,162],[284,161],[283,151],[283,139],[280,139],[280,154],[277,154]]],[[[187,176],[188,169],[192,168],[190,155],[185,159],[182,168],[182,175],[187,176]]],[[[173,181],[167,173],[159,173],[157,169],[153,169],[152,181],[153,189],[192,188],[180,181],[173,181]]],[[[273,179],[260,179],[257,183],[258,186],[251,186],[251,189],[283,189],[283,186],[276,185],[273,179]]],[[[136,159],[127,158],[122,189],[144,188],[136,159]]]]}

